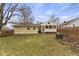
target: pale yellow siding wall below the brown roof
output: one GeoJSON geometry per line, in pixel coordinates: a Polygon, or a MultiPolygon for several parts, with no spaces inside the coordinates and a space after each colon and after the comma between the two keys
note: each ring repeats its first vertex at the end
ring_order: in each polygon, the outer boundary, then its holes
{"type": "Polygon", "coordinates": [[[28,27],[15,27],[14,33],[15,34],[38,34],[38,27],[35,27],[36,29],[33,29],[33,27],[29,27],[30,29],[27,29],[28,27]]]}

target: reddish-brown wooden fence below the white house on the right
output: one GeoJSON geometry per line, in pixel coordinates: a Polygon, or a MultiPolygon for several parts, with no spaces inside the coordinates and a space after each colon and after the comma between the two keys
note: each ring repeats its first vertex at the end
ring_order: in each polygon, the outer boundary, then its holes
{"type": "Polygon", "coordinates": [[[63,40],[69,43],[79,41],[79,29],[76,28],[61,28],[58,32],[63,34],[63,40]]]}

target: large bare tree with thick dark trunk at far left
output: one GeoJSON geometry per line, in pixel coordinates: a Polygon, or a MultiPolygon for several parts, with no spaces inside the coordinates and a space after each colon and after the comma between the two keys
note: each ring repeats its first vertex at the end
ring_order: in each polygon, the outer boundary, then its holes
{"type": "Polygon", "coordinates": [[[1,19],[0,19],[0,30],[4,24],[7,24],[7,22],[10,20],[10,18],[13,16],[14,11],[16,10],[16,7],[18,4],[5,4],[1,3],[1,19]]]}

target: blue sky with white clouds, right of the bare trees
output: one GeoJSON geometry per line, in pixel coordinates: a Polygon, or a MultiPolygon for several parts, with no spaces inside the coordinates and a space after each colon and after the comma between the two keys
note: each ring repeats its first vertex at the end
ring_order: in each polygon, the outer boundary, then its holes
{"type": "Polygon", "coordinates": [[[78,3],[26,3],[35,17],[36,21],[47,21],[52,14],[60,18],[60,21],[69,21],[79,17],[78,3]]]}

